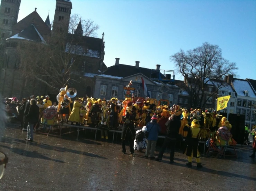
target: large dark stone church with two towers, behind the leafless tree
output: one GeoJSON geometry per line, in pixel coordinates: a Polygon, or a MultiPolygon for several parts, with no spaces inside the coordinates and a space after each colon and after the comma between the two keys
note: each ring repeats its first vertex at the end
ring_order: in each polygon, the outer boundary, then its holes
{"type": "MultiPolygon", "coordinates": [[[[45,21],[35,10],[25,18],[17,22],[21,0],[2,0],[0,6],[0,93],[4,97],[17,97],[21,99],[30,95],[41,96],[49,94],[53,101],[58,92],[53,91],[45,83],[36,79],[27,79],[20,71],[20,56],[17,45],[22,41],[45,43],[51,37],[64,34],[67,46],[72,45],[69,40],[79,36],[80,47],[88,52],[82,54],[79,60],[81,65],[79,75],[83,78],[83,83],[73,84],[78,96],[84,97],[86,94],[92,96],[95,89],[95,78],[90,73],[99,74],[107,67],[104,63],[104,34],[102,38],[83,36],[81,21],[74,34],[68,33],[72,2],[70,0],[56,0],[56,8],[51,26],[49,16],[45,21]]],[[[78,54],[73,52],[73,54],[78,54]]],[[[76,55],[74,55],[76,56],[76,55]]],[[[62,88],[62,87],[56,87],[62,88]]]]}

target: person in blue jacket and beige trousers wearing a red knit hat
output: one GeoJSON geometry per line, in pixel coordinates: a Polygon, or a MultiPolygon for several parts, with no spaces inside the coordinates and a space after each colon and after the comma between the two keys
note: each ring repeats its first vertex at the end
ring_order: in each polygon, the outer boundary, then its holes
{"type": "Polygon", "coordinates": [[[153,114],[151,121],[147,123],[146,128],[148,132],[148,138],[147,138],[147,148],[146,148],[146,153],[145,157],[148,158],[148,155],[150,153],[150,159],[155,159],[154,153],[156,150],[156,144],[157,144],[157,138],[158,138],[158,133],[161,132],[161,127],[157,123],[157,115],[153,114]]]}

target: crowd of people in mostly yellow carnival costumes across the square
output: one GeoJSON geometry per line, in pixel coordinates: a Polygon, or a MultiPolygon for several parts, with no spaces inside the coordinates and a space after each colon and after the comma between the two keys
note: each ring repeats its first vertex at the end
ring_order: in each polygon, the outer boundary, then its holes
{"type": "MultiPolygon", "coordinates": [[[[54,123],[71,122],[71,125],[100,128],[101,138],[106,140],[109,129],[122,128],[122,152],[126,153],[125,141],[129,141],[131,154],[134,154],[134,149],[146,149],[145,157],[151,159],[155,158],[158,135],[162,134],[165,140],[156,160],[160,161],[166,148],[170,147],[170,163],[174,162],[175,144],[185,138],[184,154],[188,157],[189,167],[192,166],[192,157],[196,158],[197,167],[202,167],[198,152],[200,140],[211,139],[219,147],[236,144],[230,136],[232,125],[216,111],[202,112],[201,108],[156,105],[148,99],[135,99],[134,96],[124,101],[117,98],[108,101],[88,97],[72,99],[67,94],[67,87],[60,91],[59,103],[52,103],[49,96],[32,95],[21,101],[6,98],[6,112],[8,116],[18,118],[22,130],[27,131],[27,141],[33,141],[34,128],[50,119],[54,119],[54,123]],[[54,112],[49,114],[46,110],[54,112]],[[135,132],[136,128],[138,130],[135,132]],[[226,140],[221,139],[223,132],[229,134],[226,140]]],[[[256,144],[253,145],[254,154],[251,157],[255,157],[256,144]]]]}

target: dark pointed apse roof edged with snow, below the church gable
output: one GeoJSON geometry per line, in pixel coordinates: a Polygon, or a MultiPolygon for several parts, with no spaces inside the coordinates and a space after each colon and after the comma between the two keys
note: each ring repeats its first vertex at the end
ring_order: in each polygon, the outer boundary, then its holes
{"type": "Polygon", "coordinates": [[[42,35],[38,32],[38,30],[33,24],[30,24],[24,30],[22,30],[18,34],[15,34],[14,36],[6,40],[9,40],[9,39],[23,39],[23,40],[31,40],[35,42],[46,43],[42,35]]]}

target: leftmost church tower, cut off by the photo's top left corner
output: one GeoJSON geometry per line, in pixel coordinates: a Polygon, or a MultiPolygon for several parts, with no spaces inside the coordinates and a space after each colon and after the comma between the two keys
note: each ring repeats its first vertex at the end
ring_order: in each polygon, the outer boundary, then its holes
{"type": "Polygon", "coordinates": [[[0,41],[12,35],[12,26],[17,23],[21,0],[1,0],[0,41]]]}

